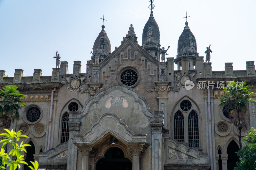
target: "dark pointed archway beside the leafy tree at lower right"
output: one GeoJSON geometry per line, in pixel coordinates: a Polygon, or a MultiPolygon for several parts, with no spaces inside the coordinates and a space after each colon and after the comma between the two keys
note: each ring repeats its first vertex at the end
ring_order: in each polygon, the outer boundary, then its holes
{"type": "Polygon", "coordinates": [[[234,167],[236,166],[236,162],[239,161],[239,157],[237,156],[237,154],[235,152],[237,152],[239,150],[238,145],[236,144],[236,142],[234,140],[232,140],[229,144],[228,144],[228,148],[227,148],[227,154],[228,154],[228,170],[233,170],[234,167]]]}

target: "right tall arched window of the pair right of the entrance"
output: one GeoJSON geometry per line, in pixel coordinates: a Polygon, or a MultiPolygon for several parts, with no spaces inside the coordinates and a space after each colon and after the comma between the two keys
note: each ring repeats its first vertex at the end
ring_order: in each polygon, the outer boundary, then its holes
{"type": "Polygon", "coordinates": [[[199,147],[199,123],[198,116],[194,110],[188,115],[188,146],[199,147]]]}

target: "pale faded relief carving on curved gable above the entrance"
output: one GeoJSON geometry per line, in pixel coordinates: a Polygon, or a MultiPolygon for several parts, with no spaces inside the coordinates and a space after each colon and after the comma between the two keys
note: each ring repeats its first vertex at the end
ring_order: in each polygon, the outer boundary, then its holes
{"type": "Polygon", "coordinates": [[[110,108],[110,107],[128,107],[128,102],[125,99],[124,95],[119,95],[119,94],[113,94],[112,96],[109,95],[108,100],[105,104],[106,108],[110,108]]]}

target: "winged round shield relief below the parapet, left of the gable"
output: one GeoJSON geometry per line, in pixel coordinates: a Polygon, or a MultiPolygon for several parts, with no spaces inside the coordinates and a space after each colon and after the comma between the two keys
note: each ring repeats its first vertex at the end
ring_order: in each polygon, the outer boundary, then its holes
{"type": "Polygon", "coordinates": [[[68,83],[65,84],[65,86],[67,86],[67,89],[70,91],[80,91],[83,86],[84,86],[84,81],[85,77],[81,77],[81,78],[66,78],[66,80],[68,81],[68,83]]]}

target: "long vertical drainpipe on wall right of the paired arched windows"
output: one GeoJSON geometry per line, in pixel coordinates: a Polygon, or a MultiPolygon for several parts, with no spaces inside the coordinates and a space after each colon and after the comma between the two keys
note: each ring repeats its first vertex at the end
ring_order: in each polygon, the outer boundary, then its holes
{"type": "Polygon", "coordinates": [[[210,87],[207,88],[208,95],[208,124],[209,124],[209,151],[210,151],[210,163],[211,170],[213,170],[213,159],[212,159],[212,120],[211,120],[211,103],[210,103],[210,87]]]}

